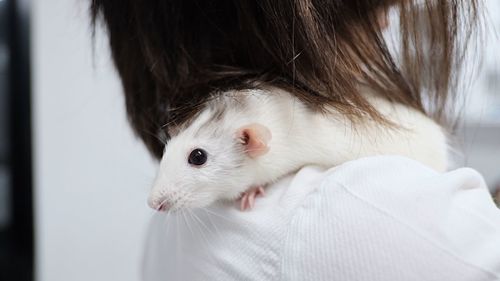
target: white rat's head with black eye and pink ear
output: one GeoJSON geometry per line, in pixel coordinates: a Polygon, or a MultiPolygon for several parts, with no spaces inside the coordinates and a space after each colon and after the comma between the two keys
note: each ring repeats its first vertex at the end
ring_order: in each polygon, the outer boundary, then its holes
{"type": "Polygon", "coordinates": [[[254,182],[254,164],[268,150],[260,124],[231,127],[202,113],[165,147],[149,196],[155,210],[200,208],[236,199],[254,182]]]}

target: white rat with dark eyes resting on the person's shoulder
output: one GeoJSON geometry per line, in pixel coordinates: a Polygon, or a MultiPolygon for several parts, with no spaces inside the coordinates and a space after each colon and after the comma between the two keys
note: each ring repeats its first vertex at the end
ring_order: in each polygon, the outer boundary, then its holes
{"type": "Polygon", "coordinates": [[[354,125],[333,108],[314,112],[275,88],[222,93],[171,132],[149,205],[177,210],[240,198],[247,209],[265,185],[305,165],[330,168],[381,154],[446,169],[447,143],[439,125],[415,109],[366,97],[399,128],[373,120],[354,125]]]}

